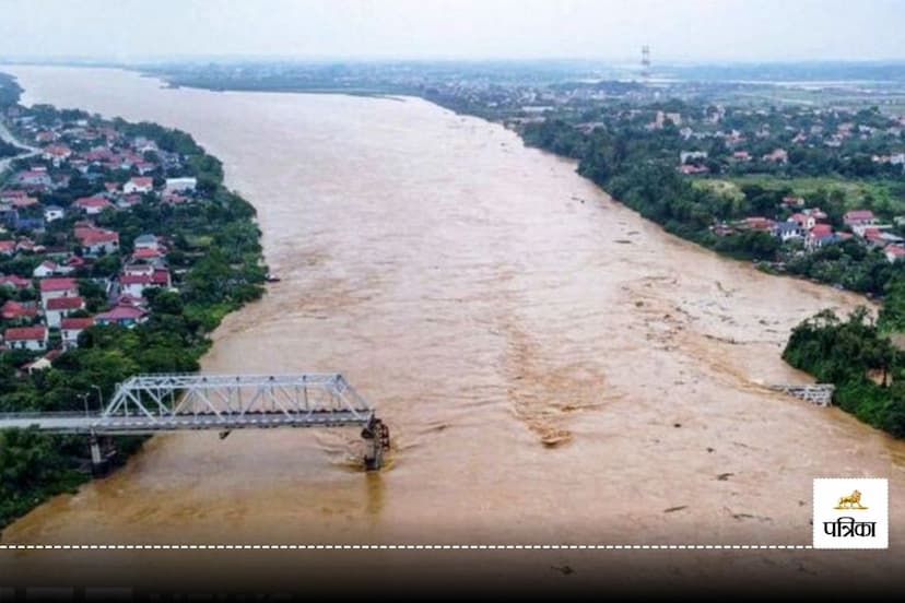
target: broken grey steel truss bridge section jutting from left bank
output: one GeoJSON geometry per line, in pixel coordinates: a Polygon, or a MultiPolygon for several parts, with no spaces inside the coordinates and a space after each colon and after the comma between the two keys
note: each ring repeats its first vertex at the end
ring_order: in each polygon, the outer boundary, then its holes
{"type": "Polygon", "coordinates": [[[380,468],[389,447],[386,425],[340,374],[137,375],[99,413],[0,414],[0,429],[89,435],[95,466],[104,463],[99,437],[277,427],[361,427],[368,469],[380,468]]]}

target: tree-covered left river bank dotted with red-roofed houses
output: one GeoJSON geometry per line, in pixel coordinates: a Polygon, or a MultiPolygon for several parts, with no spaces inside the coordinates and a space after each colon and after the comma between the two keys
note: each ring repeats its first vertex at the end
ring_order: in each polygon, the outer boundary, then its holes
{"type": "MultiPolygon", "coordinates": [[[[7,223],[14,230],[4,238],[14,236],[10,240],[20,246],[27,240],[33,248],[27,253],[19,253],[14,248],[0,259],[0,273],[14,274],[24,281],[21,287],[5,287],[2,292],[4,300],[9,299],[12,306],[4,306],[0,410],[81,412],[84,406],[87,412],[89,395],[96,393],[96,403],[101,404],[103,399],[109,400],[117,382],[133,374],[198,370],[198,359],[210,346],[208,333],[230,311],[258,299],[263,293],[267,269],[254,208],[224,187],[219,161],[183,132],[152,123],[104,121],[85,113],[63,113],[48,106],[39,111],[16,109],[23,133],[34,138],[38,132],[52,137],[59,141],[57,149],[69,155],[73,152],[66,142],[84,146],[79,137],[96,141],[99,135],[95,132],[104,132],[110,157],[114,151],[122,155],[133,153],[130,145],[141,140],[143,146],[154,149],[142,157],[145,173],[153,172],[153,176],[142,179],[148,181],[144,197],[133,198],[122,206],[119,202],[126,194],[119,187],[137,179],[121,168],[126,159],[114,162],[115,169],[97,166],[101,163],[97,162],[92,166],[96,177],[91,181],[82,173],[70,169],[66,159],[49,163],[43,157],[45,161],[30,162],[40,165],[43,172],[38,174],[46,178],[43,182],[54,182],[52,187],[42,184],[27,190],[34,196],[28,205],[32,215],[43,215],[44,206],[62,205],[67,212],[47,223],[34,217],[31,222],[24,221],[14,212],[12,221],[7,223]],[[27,127],[23,127],[25,123],[27,127]],[[81,133],[71,134],[71,131],[81,133]],[[160,158],[164,154],[166,167],[160,158]],[[174,175],[192,182],[191,190],[183,191],[178,199],[163,190],[166,176],[174,175]],[[98,178],[104,181],[98,182],[98,178]],[[86,216],[78,209],[84,199],[103,203],[108,210],[86,216]],[[116,209],[113,209],[114,202],[118,205],[116,209]],[[37,211],[31,205],[37,205],[37,211]],[[83,243],[86,239],[80,238],[80,232],[103,236],[111,245],[94,251],[83,243]],[[131,253],[141,236],[153,243],[151,259],[139,259],[131,253]],[[78,247],[79,268],[68,270],[66,279],[45,281],[48,275],[35,272],[35,267],[45,262],[58,264],[51,261],[46,247],[34,245],[35,240],[62,248],[63,253],[67,247],[78,247]],[[129,276],[146,275],[149,271],[162,279],[151,282],[133,277],[140,288],[124,291],[122,283],[129,276]],[[75,302],[73,307],[78,310],[72,317],[78,319],[78,324],[67,326],[69,315],[51,324],[46,318],[50,316],[49,310],[42,315],[35,311],[24,317],[8,316],[10,307],[36,308],[34,289],[38,288],[43,296],[48,283],[61,283],[66,287],[64,295],[75,302]],[[118,294],[113,295],[114,291],[118,294]],[[30,333],[40,332],[43,340],[27,347],[17,346],[12,335],[22,331],[22,324],[27,326],[30,333]],[[48,336],[48,327],[56,329],[52,339],[48,336]],[[78,338],[67,340],[61,334],[77,327],[78,338]],[[46,358],[48,365],[52,358],[52,365],[42,370],[22,369],[38,358],[46,358]]],[[[2,123],[0,129],[0,134],[12,138],[2,123]]],[[[42,153],[30,145],[28,154],[15,159],[42,153]]],[[[26,193],[16,188],[17,181],[13,178],[12,192],[5,192],[26,193]]],[[[54,259],[69,264],[68,258],[60,259],[59,255],[54,259]]],[[[42,305],[49,308],[43,299],[42,305]]],[[[139,438],[115,438],[115,441],[120,452],[117,464],[141,445],[139,438]]],[[[0,464],[4,471],[0,480],[0,528],[50,496],[75,492],[77,485],[90,480],[86,447],[84,437],[47,436],[33,430],[1,434],[0,464]]]]}

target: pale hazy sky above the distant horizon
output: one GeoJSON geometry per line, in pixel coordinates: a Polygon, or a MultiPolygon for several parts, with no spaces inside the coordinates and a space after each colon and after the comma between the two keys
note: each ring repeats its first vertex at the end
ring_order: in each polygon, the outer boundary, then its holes
{"type": "Polygon", "coordinates": [[[905,59],[905,0],[0,0],[0,59],[905,59]]]}

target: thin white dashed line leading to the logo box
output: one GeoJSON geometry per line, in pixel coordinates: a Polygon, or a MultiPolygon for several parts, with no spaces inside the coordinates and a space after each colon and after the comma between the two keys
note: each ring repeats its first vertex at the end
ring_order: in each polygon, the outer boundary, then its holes
{"type": "Polygon", "coordinates": [[[810,544],[0,544],[0,551],[809,551],[810,544]]]}

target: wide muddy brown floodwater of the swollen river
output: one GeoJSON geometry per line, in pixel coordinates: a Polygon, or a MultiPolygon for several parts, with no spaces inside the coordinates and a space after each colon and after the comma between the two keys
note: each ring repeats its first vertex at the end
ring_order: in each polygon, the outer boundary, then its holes
{"type": "MultiPolygon", "coordinates": [[[[125,470],[14,523],[4,542],[809,544],[812,478],[870,475],[891,481],[901,549],[905,447],[763,387],[804,380],[779,357],[789,330],[857,297],[666,235],[574,164],[421,99],[3,70],[27,104],[178,127],[222,158],[227,184],[258,209],[282,282],[226,319],[204,369],[342,371],[393,437],[379,475],[355,469],[354,429],[156,437],[125,470]]],[[[37,567],[47,555],[7,560],[37,567]]],[[[97,561],[55,555],[63,572],[97,561]]],[[[365,565],[392,571],[403,559],[365,565]]],[[[473,559],[436,564],[456,576],[473,559]]],[[[577,579],[585,567],[624,566],[628,582],[643,561],[686,577],[903,569],[883,553],[509,560],[544,580],[561,579],[549,568],[564,561],[577,579]]]]}

